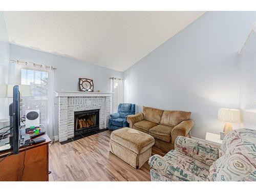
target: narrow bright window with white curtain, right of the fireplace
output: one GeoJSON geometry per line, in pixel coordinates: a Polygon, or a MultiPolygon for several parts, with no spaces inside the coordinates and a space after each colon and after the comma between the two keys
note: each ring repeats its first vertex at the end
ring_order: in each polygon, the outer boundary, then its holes
{"type": "Polygon", "coordinates": [[[119,78],[110,78],[112,94],[111,113],[116,113],[119,103],[123,102],[123,81],[119,78]]]}

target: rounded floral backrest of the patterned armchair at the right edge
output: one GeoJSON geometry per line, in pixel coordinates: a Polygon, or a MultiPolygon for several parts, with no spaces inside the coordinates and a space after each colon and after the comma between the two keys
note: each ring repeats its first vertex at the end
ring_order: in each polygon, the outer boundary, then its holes
{"type": "Polygon", "coordinates": [[[209,181],[256,181],[256,130],[239,129],[223,139],[209,181]]]}

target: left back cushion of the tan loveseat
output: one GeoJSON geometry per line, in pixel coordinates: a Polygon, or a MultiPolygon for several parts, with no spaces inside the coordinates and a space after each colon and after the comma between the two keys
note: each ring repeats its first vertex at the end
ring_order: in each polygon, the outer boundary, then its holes
{"type": "Polygon", "coordinates": [[[145,120],[152,121],[155,123],[160,123],[163,110],[148,108],[147,106],[143,106],[143,114],[144,114],[145,120]]]}

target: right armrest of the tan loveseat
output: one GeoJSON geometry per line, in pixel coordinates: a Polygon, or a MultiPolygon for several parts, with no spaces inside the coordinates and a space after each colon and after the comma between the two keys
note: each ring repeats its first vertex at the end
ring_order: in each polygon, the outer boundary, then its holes
{"type": "Polygon", "coordinates": [[[187,136],[188,132],[192,129],[194,121],[192,119],[184,120],[176,125],[171,133],[171,143],[175,143],[178,136],[187,136]]]}

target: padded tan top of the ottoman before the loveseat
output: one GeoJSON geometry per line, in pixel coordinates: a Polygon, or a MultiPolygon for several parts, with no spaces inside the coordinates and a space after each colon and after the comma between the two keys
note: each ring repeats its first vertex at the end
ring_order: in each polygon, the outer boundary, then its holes
{"type": "Polygon", "coordinates": [[[110,139],[138,155],[145,152],[155,143],[155,140],[151,135],[130,129],[129,127],[113,131],[110,139]]]}

